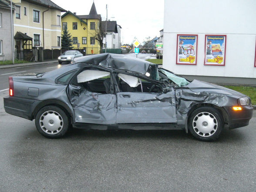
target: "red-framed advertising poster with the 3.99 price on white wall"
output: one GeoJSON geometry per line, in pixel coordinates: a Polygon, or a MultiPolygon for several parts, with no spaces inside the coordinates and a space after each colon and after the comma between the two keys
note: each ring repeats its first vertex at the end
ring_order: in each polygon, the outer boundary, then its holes
{"type": "Polygon", "coordinates": [[[225,65],[226,35],[205,35],[205,65],[225,65]]]}

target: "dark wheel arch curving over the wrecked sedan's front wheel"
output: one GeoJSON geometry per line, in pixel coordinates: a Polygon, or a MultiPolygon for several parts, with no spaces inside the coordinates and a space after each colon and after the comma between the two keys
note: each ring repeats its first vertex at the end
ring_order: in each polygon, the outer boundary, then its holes
{"type": "Polygon", "coordinates": [[[219,111],[220,115],[222,115],[223,124],[224,125],[229,125],[229,115],[228,115],[227,111],[224,108],[220,107],[217,104],[213,104],[213,103],[198,103],[198,104],[193,105],[192,108],[190,108],[189,111],[188,111],[187,118],[186,118],[186,121],[185,121],[185,131],[186,131],[186,133],[188,133],[188,122],[189,122],[189,117],[190,117],[191,113],[195,109],[200,108],[200,107],[215,108],[216,110],[219,111]]]}

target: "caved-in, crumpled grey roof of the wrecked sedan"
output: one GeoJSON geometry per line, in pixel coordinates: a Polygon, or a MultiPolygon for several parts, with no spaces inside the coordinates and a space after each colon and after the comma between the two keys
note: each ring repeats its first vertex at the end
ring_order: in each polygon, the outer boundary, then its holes
{"type": "Polygon", "coordinates": [[[109,53],[78,57],[74,59],[74,61],[76,63],[94,64],[105,67],[136,71],[141,74],[145,74],[148,71],[149,66],[155,65],[148,61],[144,61],[127,55],[109,53]]]}

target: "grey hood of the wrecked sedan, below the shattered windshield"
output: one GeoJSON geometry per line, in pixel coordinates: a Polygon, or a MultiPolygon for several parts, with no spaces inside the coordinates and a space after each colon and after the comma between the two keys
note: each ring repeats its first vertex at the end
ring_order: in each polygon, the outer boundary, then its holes
{"type": "Polygon", "coordinates": [[[194,80],[191,83],[187,84],[186,86],[183,86],[183,88],[189,88],[191,91],[194,92],[208,92],[208,93],[216,93],[216,94],[227,94],[227,95],[234,95],[239,98],[245,97],[246,95],[239,93],[237,91],[234,91],[229,88],[225,88],[216,84],[207,83],[204,81],[194,80]]]}

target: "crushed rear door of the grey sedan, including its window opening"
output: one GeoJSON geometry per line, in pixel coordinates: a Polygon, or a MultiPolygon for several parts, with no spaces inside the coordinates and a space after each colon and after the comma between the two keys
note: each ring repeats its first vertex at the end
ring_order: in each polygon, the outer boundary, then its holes
{"type": "Polygon", "coordinates": [[[109,71],[85,69],[69,84],[76,123],[116,124],[116,95],[109,71]]]}

